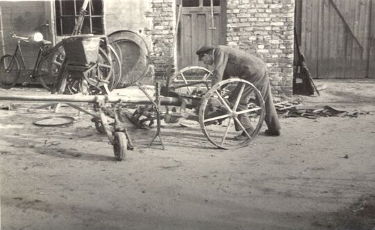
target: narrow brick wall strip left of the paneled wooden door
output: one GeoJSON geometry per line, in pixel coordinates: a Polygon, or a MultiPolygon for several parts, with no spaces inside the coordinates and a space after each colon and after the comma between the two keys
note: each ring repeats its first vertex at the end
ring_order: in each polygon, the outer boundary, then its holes
{"type": "Polygon", "coordinates": [[[152,21],[152,28],[145,33],[151,36],[153,43],[150,59],[156,80],[163,80],[166,69],[174,64],[171,52],[176,24],[175,8],[174,0],[151,0],[151,10],[145,12],[152,21]]]}

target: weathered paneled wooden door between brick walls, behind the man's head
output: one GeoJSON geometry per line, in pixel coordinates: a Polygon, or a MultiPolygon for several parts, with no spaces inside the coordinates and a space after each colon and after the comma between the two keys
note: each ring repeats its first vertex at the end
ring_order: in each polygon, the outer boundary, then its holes
{"type": "Polygon", "coordinates": [[[202,66],[195,55],[201,46],[226,44],[226,1],[213,0],[213,24],[210,0],[182,0],[180,3],[182,10],[177,42],[178,69],[202,66]]]}

